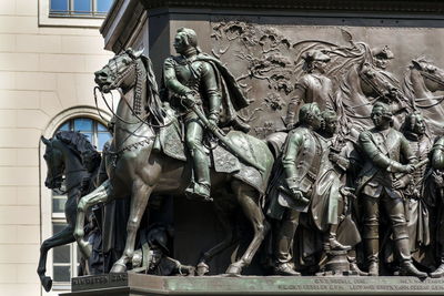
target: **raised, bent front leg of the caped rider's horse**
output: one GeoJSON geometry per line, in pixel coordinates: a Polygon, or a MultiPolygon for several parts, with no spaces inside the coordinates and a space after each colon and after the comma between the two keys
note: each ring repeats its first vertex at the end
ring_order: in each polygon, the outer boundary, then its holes
{"type": "Polygon", "coordinates": [[[93,205],[105,203],[111,200],[112,186],[109,180],[103,182],[99,187],[88,195],[80,198],[77,205],[77,218],[74,228],[74,238],[79,245],[79,249],[85,258],[92,253],[92,246],[84,239],[84,217],[85,213],[93,205]]]}

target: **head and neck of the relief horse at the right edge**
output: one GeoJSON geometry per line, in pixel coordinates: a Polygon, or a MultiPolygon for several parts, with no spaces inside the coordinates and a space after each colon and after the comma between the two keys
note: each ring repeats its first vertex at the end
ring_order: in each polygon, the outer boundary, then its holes
{"type": "Polygon", "coordinates": [[[413,59],[405,72],[402,88],[414,106],[423,113],[432,134],[442,134],[444,96],[436,96],[434,92],[444,91],[444,70],[425,58],[413,59]]]}

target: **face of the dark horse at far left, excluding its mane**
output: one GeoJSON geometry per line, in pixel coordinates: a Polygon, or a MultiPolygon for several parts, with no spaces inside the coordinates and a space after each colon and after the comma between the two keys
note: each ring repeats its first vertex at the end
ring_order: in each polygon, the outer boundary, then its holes
{"type": "Polygon", "coordinates": [[[44,136],[41,136],[40,140],[47,146],[43,154],[48,167],[44,186],[50,190],[60,188],[64,173],[63,153],[53,144],[53,137],[48,140],[44,136]]]}

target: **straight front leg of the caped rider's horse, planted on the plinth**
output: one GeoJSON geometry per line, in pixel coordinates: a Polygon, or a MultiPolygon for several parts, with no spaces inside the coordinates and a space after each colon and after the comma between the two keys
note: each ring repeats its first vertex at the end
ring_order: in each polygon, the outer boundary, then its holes
{"type": "Polygon", "coordinates": [[[127,223],[125,247],[123,255],[113,264],[110,273],[124,273],[127,271],[127,264],[132,262],[132,256],[134,255],[135,235],[153,188],[154,186],[145,184],[141,178],[137,178],[133,182],[130,216],[127,223]]]}

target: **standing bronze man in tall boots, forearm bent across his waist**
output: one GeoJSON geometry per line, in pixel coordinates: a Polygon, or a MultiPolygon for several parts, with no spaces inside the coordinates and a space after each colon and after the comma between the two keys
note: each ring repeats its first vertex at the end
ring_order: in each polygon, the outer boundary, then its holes
{"type": "Polygon", "coordinates": [[[380,205],[389,215],[395,249],[400,256],[401,274],[426,277],[412,263],[407,223],[402,193],[396,184],[396,173],[412,173],[416,161],[408,141],[392,127],[393,114],[390,106],[376,102],[372,109],[373,129],[359,136],[364,164],[360,172],[356,195],[364,212],[363,242],[369,262],[369,274],[379,275],[380,205]],[[407,164],[402,164],[401,159],[407,164]]]}

